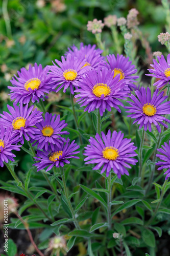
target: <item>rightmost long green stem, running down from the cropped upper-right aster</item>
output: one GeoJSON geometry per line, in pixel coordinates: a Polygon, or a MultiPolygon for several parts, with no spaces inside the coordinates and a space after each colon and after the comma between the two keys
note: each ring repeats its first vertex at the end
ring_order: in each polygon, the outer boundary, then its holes
{"type": "MultiPolygon", "coordinates": [[[[167,88],[167,99],[166,99],[166,101],[169,101],[169,99],[170,99],[170,85],[167,88]]],[[[165,117],[166,117],[166,115],[165,115],[165,117]]],[[[156,162],[157,148],[160,147],[160,142],[161,142],[161,137],[162,137],[163,131],[164,131],[164,126],[162,125],[161,132],[159,133],[158,141],[157,141],[157,144],[156,144],[156,147],[155,147],[155,151],[154,151],[154,156],[153,156],[153,161],[152,161],[153,163],[156,162]]],[[[155,164],[152,165],[152,173],[151,173],[151,176],[150,176],[150,179],[149,179],[149,182],[148,182],[148,187],[147,187],[147,190],[146,190],[146,194],[150,190],[151,183],[153,181],[154,174],[155,174],[155,168],[156,168],[156,165],[155,164]]]]}

